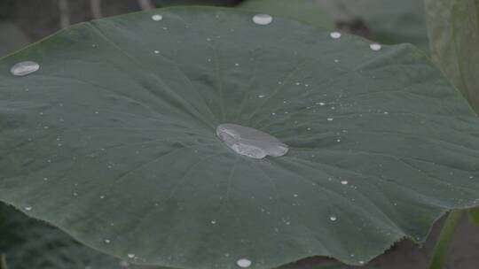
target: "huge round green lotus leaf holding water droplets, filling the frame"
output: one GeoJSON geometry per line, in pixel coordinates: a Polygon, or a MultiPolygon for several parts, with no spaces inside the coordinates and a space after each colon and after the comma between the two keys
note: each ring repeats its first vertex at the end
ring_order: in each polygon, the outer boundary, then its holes
{"type": "Polygon", "coordinates": [[[1,199],[117,257],[194,269],[361,265],[479,201],[479,120],[422,52],[252,17],[139,12],[2,59],[1,199]],[[40,70],[13,76],[25,60],[40,70]],[[222,123],[289,151],[241,156],[222,123]]]}

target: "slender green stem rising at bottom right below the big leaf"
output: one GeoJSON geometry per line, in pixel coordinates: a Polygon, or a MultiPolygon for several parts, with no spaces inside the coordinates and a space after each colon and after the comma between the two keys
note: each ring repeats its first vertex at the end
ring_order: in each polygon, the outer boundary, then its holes
{"type": "Polygon", "coordinates": [[[463,210],[454,210],[449,213],[444,223],[444,227],[437,238],[436,246],[434,247],[433,256],[429,263],[429,269],[441,269],[444,265],[444,259],[449,249],[449,244],[452,242],[452,238],[456,227],[458,227],[460,216],[462,216],[463,210]]]}

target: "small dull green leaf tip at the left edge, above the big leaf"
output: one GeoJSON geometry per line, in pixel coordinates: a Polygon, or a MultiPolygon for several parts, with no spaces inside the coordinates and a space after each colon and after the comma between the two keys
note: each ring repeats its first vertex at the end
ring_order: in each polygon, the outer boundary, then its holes
{"type": "Polygon", "coordinates": [[[19,50],[28,43],[27,36],[20,28],[7,20],[0,20],[0,40],[0,57],[19,50]]]}

